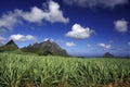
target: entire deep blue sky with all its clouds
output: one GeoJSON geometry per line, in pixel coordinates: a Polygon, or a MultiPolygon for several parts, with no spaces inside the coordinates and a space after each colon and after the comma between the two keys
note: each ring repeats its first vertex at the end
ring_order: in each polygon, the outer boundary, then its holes
{"type": "Polygon", "coordinates": [[[130,55],[129,0],[1,0],[0,46],[48,39],[70,55],[130,55]]]}

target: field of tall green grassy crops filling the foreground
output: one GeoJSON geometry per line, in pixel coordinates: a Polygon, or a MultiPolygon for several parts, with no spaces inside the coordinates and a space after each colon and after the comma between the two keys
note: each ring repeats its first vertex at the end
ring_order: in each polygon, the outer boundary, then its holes
{"type": "Polygon", "coordinates": [[[101,87],[130,82],[129,59],[0,53],[0,87],[101,87]]]}

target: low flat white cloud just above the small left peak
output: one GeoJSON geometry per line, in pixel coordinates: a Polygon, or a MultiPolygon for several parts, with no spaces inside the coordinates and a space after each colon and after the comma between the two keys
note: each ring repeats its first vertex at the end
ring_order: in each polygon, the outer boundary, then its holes
{"type": "Polygon", "coordinates": [[[37,38],[34,37],[32,35],[26,35],[26,36],[24,36],[24,35],[21,35],[21,34],[11,35],[10,39],[13,39],[15,41],[27,41],[27,40],[37,41],[37,38]]]}

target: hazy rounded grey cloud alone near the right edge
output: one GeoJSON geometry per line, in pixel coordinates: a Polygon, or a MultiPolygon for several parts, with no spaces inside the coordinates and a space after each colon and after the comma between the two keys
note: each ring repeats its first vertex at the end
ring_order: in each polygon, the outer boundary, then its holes
{"type": "Polygon", "coordinates": [[[126,20],[118,20],[114,22],[115,29],[119,33],[126,33],[128,32],[128,22],[126,20]]]}

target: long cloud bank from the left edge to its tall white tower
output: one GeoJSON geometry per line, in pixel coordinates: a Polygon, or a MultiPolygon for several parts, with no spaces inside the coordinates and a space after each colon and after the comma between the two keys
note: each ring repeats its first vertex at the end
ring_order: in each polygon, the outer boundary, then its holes
{"type": "Polygon", "coordinates": [[[50,0],[47,4],[47,10],[32,7],[30,11],[23,11],[18,9],[9,11],[0,17],[0,28],[13,29],[13,27],[17,24],[22,24],[23,20],[30,23],[41,23],[42,21],[51,23],[68,23],[69,18],[64,17],[58,3],[50,0]]]}

